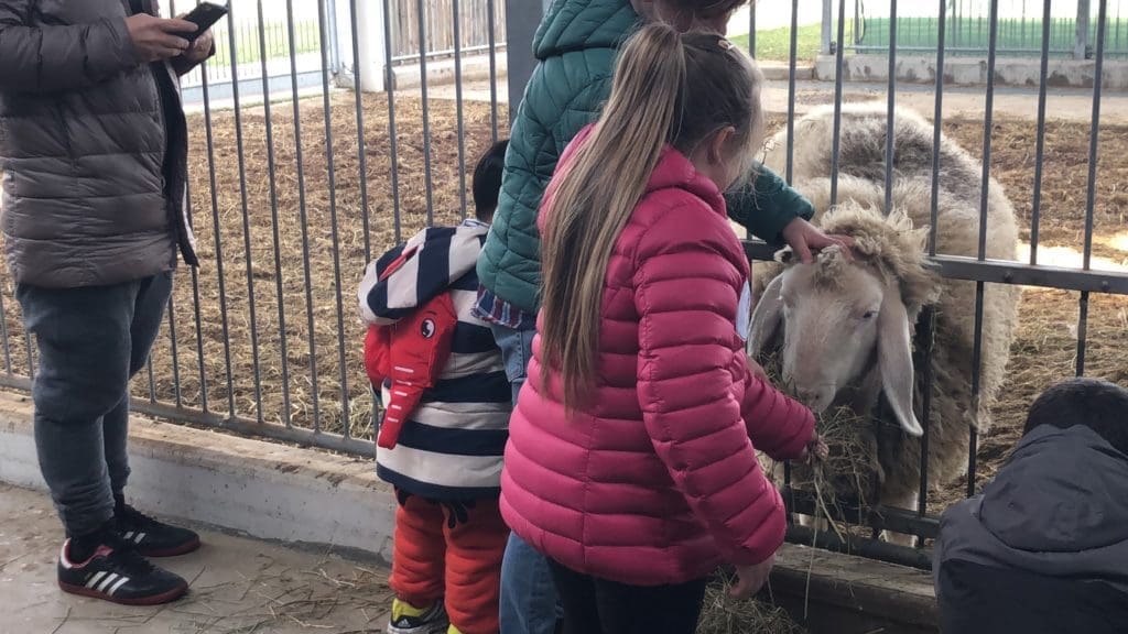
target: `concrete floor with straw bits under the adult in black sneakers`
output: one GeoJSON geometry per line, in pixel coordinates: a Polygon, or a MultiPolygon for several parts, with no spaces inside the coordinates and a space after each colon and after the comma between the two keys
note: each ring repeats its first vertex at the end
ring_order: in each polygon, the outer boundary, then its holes
{"type": "Polygon", "coordinates": [[[387,623],[380,567],[206,530],[199,552],[158,561],[190,580],[184,599],[73,597],[55,584],[62,529],[47,495],[0,484],[0,634],[351,634],[387,623]]]}

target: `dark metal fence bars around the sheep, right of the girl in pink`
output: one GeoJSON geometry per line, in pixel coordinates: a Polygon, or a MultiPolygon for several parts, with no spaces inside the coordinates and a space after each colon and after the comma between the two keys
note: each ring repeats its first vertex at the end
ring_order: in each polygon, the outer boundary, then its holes
{"type": "MultiPolygon", "coordinates": [[[[1021,284],[1026,287],[1040,287],[1040,288],[1052,288],[1052,289],[1066,289],[1070,291],[1078,292],[1077,300],[1077,317],[1076,317],[1076,353],[1074,371],[1077,376],[1085,375],[1086,369],[1086,351],[1087,351],[1087,325],[1090,319],[1090,301],[1094,293],[1117,293],[1120,296],[1128,294],[1128,273],[1125,272],[1103,272],[1092,270],[1092,256],[1093,256],[1093,238],[1094,238],[1094,209],[1096,205],[1096,182],[1098,182],[1098,160],[1100,156],[1100,132],[1101,132],[1101,105],[1102,105],[1102,82],[1095,81],[1091,94],[1091,112],[1092,117],[1089,124],[1087,137],[1089,137],[1089,148],[1087,148],[1087,161],[1085,161],[1085,201],[1083,211],[1084,221],[1083,230],[1081,236],[1081,247],[1082,247],[1082,263],[1079,267],[1052,267],[1046,266],[1039,263],[1039,228],[1043,220],[1043,167],[1046,164],[1046,138],[1047,138],[1047,98],[1049,91],[1048,82],[1048,65],[1050,58],[1055,54],[1054,50],[1054,37],[1052,37],[1052,20],[1043,19],[1041,20],[1039,27],[1041,29],[1041,37],[1039,39],[1040,47],[1038,49],[1038,54],[1041,60],[1041,73],[1040,81],[1038,85],[1037,94],[1030,94],[1031,99],[1038,99],[1038,114],[1034,126],[1037,129],[1036,138],[1037,146],[1033,148],[1033,162],[1034,173],[1031,180],[1033,199],[1030,206],[1030,226],[1029,226],[1029,253],[1030,259],[1028,263],[1019,262],[998,262],[988,261],[986,258],[986,240],[987,240],[987,200],[989,192],[989,179],[992,177],[992,158],[993,158],[993,130],[995,125],[995,63],[997,55],[999,53],[999,18],[998,18],[998,7],[1001,0],[985,0],[982,3],[987,5],[987,24],[986,24],[986,54],[987,54],[987,73],[988,78],[986,85],[986,103],[982,116],[982,174],[981,174],[981,201],[979,206],[979,253],[976,258],[967,257],[954,257],[945,256],[936,253],[936,214],[938,210],[938,196],[940,196],[940,161],[935,160],[933,162],[933,174],[932,174],[932,222],[931,222],[931,235],[928,239],[929,256],[933,258],[937,265],[940,272],[948,279],[953,280],[967,280],[976,283],[976,306],[975,306],[975,319],[976,319],[976,331],[975,331],[975,346],[972,351],[972,356],[968,359],[972,371],[972,402],[977,403],[979,399],[979,377],[981,369],[981,351],[982,351],[982,320],[984,320],[984,290],[985,285],[988,283],[996,284],[1021,284]]],[[[902,3],[910,5],[914,9],[920,10],[918,2],[902,3]]],[[[1108,46],[1109,29],[1109,7],[1113,5],[1109,0],[1094,0],[1095,5],[1095,25],[1093,29],[1093,52],[1092,58],[1095,60],[1095,77],[1102,77],[1102,67],[1105,61],[1105,53],[1108,46]]],[[[952,9],[952,0],[936,0],[934,3],[937,19],[933,23],[935,27],[934,42],[948,42],[948,28],[953,24],[960,24],[958,18],[953,18],[950,15],[952,9]]],[[[795,50],[797,46],[796,35],[799,33],[797,26],[797,15],[795,9],[797,8],[797,1],[793,1],[792,5],[792,60],[791,60],[791,81],[788,83],[788,103],[791,104],[788,108],[787,121],[794,121],[795,114],[795,103],[796,103],[796,82],[795,82],[795,50]]],[[[847,16],[847,1],[837,0],[836,15],[837,24],[832,25],[836,29],[837,36],[835,41],[845,41],[846,21],[847,16]]],[[[902,50],[899,45],[898,28],[902,24],[898,19],[898,1],[889,1],[889,19],[887,19],[882,25],[888,29],[883,34],[883,39],[885,45],[882,47],[883,53],[889,56],[889,83],[887,86],[885,98],[888,103],[888,127],[887,130],[892,130],[895,107],[897,106],[898,86],[897,86],[897,73],[895,72],[898,52],[902,50]]],[[[1050,16],[1051,2],[1050,0],[1045,0],[1043,11],[1047,17],[1050,16]]],[[[752,17],[752,50],[755,50],[755,12],[752,17]]],[[[856,33],[856,30],[855,30],[856,33]]],[[[934,86],[935,95],[935,109],[933,113],[933,122],[935,127],[934,135],[934,151],[933,156],[938,157],[940,155],[940,143],[941,133],[943,125],[943,105],[945,96],[945,85],[944,85],[944,63],[945,55],[948,54],[948,47],[933,47],[936,59],[936,81],[934,86]]],[[[836,50],[836,82],[834,91],[834,106],[836,112],[836,118],[840,117],[841,105],[844,103],[844,83],[843,83],[843,63],[844,63],[844,47],[837,47],[836,50]]],[[[837,123],[837,122],[836,122],[837,123]]],[[[837,166],[839,156],[839,144],[840,144],[840,127],[836,124],[832,143],[832,155],[834,165],[837,166]]],[[[897,174],[893,170],[893,135],[891,133],[887,134],[887,149],[885,149],[885,192],[887,192],[887,208],[889,209],[889,195],[892,192],[892,184],[897,178],[897,174]]],[[[792,148],[787,148],[787,162],[792,161],[792,148]]],[[[788,174],[790,178],[790,174],[788,174]]],[[[831,169],[831,192],[835,191],[835,182],[837,182],[838,173],[836,168],[831,169]]],[[[831,194],[834,196],[834,194],[831,194]]],[[[835,201],[831,200],[831,204],[835,201]]],[[[1121,220],[1122,222],[1122,220],[1121,220]]],[[[754,259],[770,259],[772,252],[766,245],[748,243],[747,250],[751,258],[754,259]]],[[[1126,264],[1128,264],[1128,258],[1125,258],[1126,264]]],[[[926,310],[920,320],[923,322],[925,333],[924,341],[931,341],[935,327],[934,316],[931,311],[926,310]]],[[[922,324],[918,324],[918,328],[922,324]]],[[[929,370],[928,359],[932,353],[931,349],[926,349],[925,361],[923,364],[924,371],[929,370]]],[[[931,384],[931,380],[926,377],[926,382],[931,384]]],[[[867,510],[861,510],[856,507],[846,508],[841,513],[838,513],[838,520],[849,520],[853,518],[857,521],[858,513],[862,512],[866,516],[866,522],[873,529],[873,535],[871,538],[857,538],[853,537],[851,534],[838,535],[835,531],[818,531],[812,528],[792,526],[788,530],[788,539],[799,543],[807,544],[818,544],[822,547],[853,552],[864,556],[871,556],[875,558],[882,558],[887,561],[892,561],[897,563],[902,563],[907,565],[918,566],[918,567],[931,567],[931,555],[928,552],[929,540],[935,538],[938,530],[938,522],[935,517],[935,509],[929,507],[929,481],[928,481],[928,413],[931,408],[932,400],[934,398],[932,390],[926,389],[924,391],[924,398],[922,403],[922,413],[918,420],[925,426],[925,434],[923,437],[920,447],[920,483],[919,483],[919,502],[916,509],[896,509],[888,507],[876,507],[867,510]],[[933,512],[929,512],[933,511],[933,512]],[[879,530],[890,530],[895,532],[904,532],[909,535],[915,535],[918,537],[917,545],[915,547],[898,546],[889,543],[879,541],[876,539],[879,530]]],[[[971,403],[968,406],[972,406],[971,403]]],[[[978,457],[978,442],[979,437],[976,430],[969,430],[968,443],[969,443],[969,461],[968,461],[968,476],[967,476],[967,495],[973,495],[977,491],[977,457],[978,457]]],[[[790,479],[790,478],[788,478],[790,479]]],[[[793,511],[797,511],[804,514],[816,516],[818,514],[818,509],[816,508],[816,501],[812,500],[811,495],[807,492],[794,491],[790,486],[790,482],[785,482],[784,485],[785,499],[788,502],[788,507],[793,511]]],[[[831,511],[834,512],[834,511],[831,511]]]]}

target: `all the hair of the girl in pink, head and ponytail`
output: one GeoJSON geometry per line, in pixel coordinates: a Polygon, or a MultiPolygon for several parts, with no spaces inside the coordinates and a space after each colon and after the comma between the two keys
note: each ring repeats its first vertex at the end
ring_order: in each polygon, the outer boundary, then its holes
{"type": "MultiPolygon", "coordinates": [[[[763,137],[761,83],[716,34],[656,23],[623,49],[602,116],[545,200],[540,351],[563,377],[567,410],[584,406],[593,385],[607,263],[663,148],[688,156],[733,127],[731,155],[748,167],[763,137]]],[[[547,390],[548,372],[541,377],[547,390]]]]}

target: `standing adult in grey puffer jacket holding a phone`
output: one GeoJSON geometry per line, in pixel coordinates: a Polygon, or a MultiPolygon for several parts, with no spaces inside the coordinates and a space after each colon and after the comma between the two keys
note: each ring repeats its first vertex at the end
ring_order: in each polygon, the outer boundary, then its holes
{"type": "Polygon", "coordinates": [[[213,52],[156,0],[0,0],[0,173],[8,267],[36,337],[39,466],[67,529],[63,590],[152,605],[183,579],[142,556],[200,545],[124,501],[129,379],[144,366],[185,217],[179,74],[213,52]]]}

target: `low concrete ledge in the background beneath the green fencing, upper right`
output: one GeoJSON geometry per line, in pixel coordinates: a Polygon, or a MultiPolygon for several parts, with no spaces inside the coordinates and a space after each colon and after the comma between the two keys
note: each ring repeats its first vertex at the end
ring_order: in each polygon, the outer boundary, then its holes
{"type": "MultiPolygon", "coordinates": [[[[816,78],[835,80],[836,60],[820,55],[816,62],[816,78]]],[[[897,58],[897,80],[909,83],[935,83],[935,56],[905,55],[897,58]]],[[[1050,60],[1047,85],[1056,88],[1092,88],[1096,63],[1086,60],[1050,60]]],[[[1037,88],[1041,80],[1041,61],[1038,59],[998,59],[995,62],[995,82],[1001,86],[1037,88]]],[[[1108,90],[1128,90],[1128,62],[1105,60],[1102,86],[1108,90]]],[[[846,81],[889,81],[889,58],[885,55],[847,55],[843,59],[843,79],[846,81]]],[[[949,58],[944,61],[944,82],[955,86],[985,86],[987,61],[977,58],[949,58]]]]}

